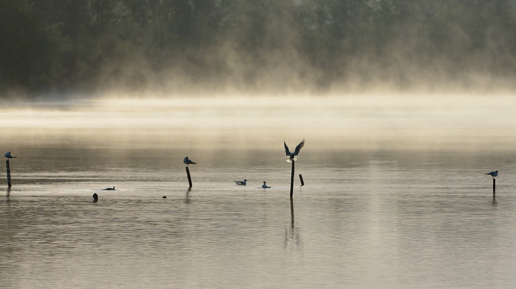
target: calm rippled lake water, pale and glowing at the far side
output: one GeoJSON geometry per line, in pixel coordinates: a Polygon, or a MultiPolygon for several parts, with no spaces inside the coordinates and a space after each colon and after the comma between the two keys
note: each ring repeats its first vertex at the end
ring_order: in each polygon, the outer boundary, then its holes
{"type": "Polygon", "coordinates": [[[18,156],[12,189],[0,178],[0,287],[512,288],[514,111],[461,96],[15,103],[0,109],[18,156]],[[303,138],[291,206],[282,142],[303,138]]]}

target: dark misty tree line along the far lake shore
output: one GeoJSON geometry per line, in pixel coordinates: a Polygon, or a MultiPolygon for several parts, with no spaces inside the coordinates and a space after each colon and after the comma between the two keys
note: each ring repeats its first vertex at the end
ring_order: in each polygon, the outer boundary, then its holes
{"type": "Polygon", "coordinates": [[[510,0],[0,0],[0,95],[512,88],[510,0]]]}

